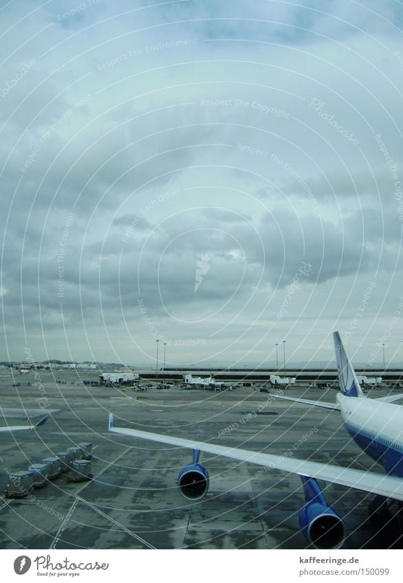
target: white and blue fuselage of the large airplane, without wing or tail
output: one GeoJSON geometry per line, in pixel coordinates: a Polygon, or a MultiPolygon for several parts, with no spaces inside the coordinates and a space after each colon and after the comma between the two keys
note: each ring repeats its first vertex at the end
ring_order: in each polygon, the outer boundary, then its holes
{"type": "Polygon", "coordinates": [[[382,464],[389,475],[403,477],[403,407],[338,393],[343,424],[351,438],[382,464]]]}

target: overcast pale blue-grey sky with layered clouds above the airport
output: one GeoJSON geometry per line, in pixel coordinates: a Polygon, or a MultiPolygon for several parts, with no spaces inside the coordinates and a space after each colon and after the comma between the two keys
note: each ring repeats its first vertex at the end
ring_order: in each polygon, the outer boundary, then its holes
{"type": "Polygon", "coordinates": [[[402,23],[1,3],[0,361],[402,365],[402,23]]]}

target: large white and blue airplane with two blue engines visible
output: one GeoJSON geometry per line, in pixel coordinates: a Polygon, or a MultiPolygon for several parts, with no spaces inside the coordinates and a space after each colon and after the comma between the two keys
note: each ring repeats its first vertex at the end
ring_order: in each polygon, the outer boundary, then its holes
{"type": "Polygon", "coordinates": [[[403,407],[393,402],[401,399],[403,395],[367,398],[347,358],[340,334],[334,332],[333,336],[341,391],[336,395],[336,403],[284,396],[281,398],[340,411],[349,435],[364,453],[384,467],[386,474],[116,427],[111,414],[109,431],[193,450],[192,463],[184,466],[177,478],[180,492],[191,501],[201,499],[209,486],[208,471],[199,463],[200,452],[222,455],[299,475],[305,494],[305,503],[299,512],[299,524],[303,535],[315,549],[340,549],[346,538],[345,524],[338,512],[325,501],[317,480],[362,490],[375,496],[382,496],[382,499],[393,499],[398,501],[402,508],[403,407]]]}

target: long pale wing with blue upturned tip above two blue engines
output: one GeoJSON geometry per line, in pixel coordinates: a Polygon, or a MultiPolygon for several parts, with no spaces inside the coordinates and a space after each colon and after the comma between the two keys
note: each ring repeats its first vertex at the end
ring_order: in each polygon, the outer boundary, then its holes
{"type": "Polygon", "coordinates": [[[336,483],[347,488],[355,488],[371,494],[379,494],[386,498],[403,501],[403,480],[398,477],[378,474],[375,472],[364,472],[353,468],[342,468],[331,464],[322,464],[318,461],[306,459],[296,459],[283,455],[272,455],[270,453],[260,453],[246,449],[238,449],[229,446],[219,446],[216,444],[196,442],[182,437],[172,437],[170,435],[160,435],[149,433],[148,431],[138,431],[124,427],[115,427],[113,415],[109,415],[109,431],[120,435],[129,435],[139,439],[149,439],[152,442],[168,444],[172,446],[189,448],[193,450],[222,455],[239,461],[247,461],[249,464],[257,464],[267,468],[292,472],[301,476],[308,476],[330,483],[336,483]]]}

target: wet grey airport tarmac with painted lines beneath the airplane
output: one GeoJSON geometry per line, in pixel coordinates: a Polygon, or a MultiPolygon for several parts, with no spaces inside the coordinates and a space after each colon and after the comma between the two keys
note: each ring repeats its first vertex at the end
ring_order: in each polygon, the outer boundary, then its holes
{"type": "MultiPolygon", "coordinates": [[[[109,411],[119,426],[340,466],[373,466],[345,432],[338,413],[272,401],[251,388],[136,392],[83,385],[81,380],[96,378],[94,372],[38,374],[40,384],[33,385],[32,373],[14,380],[9,371],[0,373],[1,407],[14,409],[9,424],[20,424],[15,421],[19,407],[38,409],[45,401],[46,409],[58,409],[38,431],[0,434],[0,492],[9,470],[23,470],[80,442],[93,444],[94,479],[71,483],[62,475],[34,490],[31,499],[2,496],[1,549],[307,548],[298,527],[304,503],[298,476],[204,455],[210,490],[190,503],[177,490],[176,479],[192,461],[192,452],[111,434],[109,411]],[[13,382],[20,386],[12,387],[13,382]]],[[[301,395],[301,389],[287,389],[287,394],[301,395]]],[[[331,402],[335,397],[332,389],[305,393],[305,398],[331,402]]],[[[380,466],[372,470],[382,473],[380,466]]],[[[372,496],[320,484],[345,520],[345,549],[401,548],[391,525],[379,532],[369,523],[372,496]]]]}

